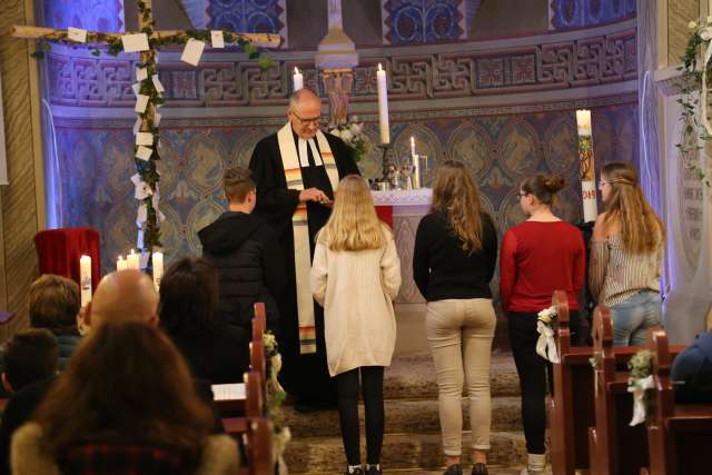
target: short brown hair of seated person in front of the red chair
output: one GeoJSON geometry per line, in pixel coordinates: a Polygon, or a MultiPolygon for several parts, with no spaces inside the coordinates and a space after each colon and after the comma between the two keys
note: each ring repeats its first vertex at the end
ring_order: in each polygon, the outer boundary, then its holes
{"type": "Polygon", "coordinates": [[[81,307],[79,285],[67,277],[46,274],[30,285],[30,325],[55,335],[78,335],[81,307]]]}

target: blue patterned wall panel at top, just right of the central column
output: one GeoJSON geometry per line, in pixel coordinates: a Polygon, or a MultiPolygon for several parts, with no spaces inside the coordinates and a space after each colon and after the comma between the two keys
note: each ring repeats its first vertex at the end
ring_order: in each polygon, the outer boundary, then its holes
{"type": "Polygon", "coordinates": [[[465,0],[382,0],[383,42],[427,43],[466,38],[465,0]]]}

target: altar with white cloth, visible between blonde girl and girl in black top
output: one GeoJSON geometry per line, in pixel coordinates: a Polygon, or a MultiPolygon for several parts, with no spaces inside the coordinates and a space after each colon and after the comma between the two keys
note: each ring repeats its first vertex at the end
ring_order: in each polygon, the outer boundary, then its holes
{"type": "Polygon", "coordinates": [[[395,301],[398,326],[396,354],[426,353],[425,299],[413,280],[413,247],[418,222],[431,208],[433,190],[421,188],[373,191],[373,197],[378,216],[393,228],[396,248],[400,257],[403,284],[395,301]]]}

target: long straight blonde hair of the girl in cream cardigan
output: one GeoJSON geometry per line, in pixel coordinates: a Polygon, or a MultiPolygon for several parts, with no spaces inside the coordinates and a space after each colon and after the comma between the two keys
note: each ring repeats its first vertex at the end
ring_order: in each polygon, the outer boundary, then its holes
{"type": "Polygon", "coordinates": [[[317,236],[332,250],[378,249],[386,245],[384,225],[376,215],[368,182],[349,175],[338,184],[334,209],[317,236]]]}

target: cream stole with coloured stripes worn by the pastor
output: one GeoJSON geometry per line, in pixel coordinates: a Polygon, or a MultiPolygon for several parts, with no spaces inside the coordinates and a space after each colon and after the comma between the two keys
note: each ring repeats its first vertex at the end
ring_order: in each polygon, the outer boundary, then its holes
{"type": "MultiPolygon", "coordinates": [[[[301,168],[299,167],[299,154],[294,142],[291,125],[287,123],[277,132],[279,155],[285,168],[287,188],[304,189],[301,168]]],[[[338,170],[334,154],[326,140],[326,136],[319,130],[316,132],[319,144],[324,168],[329,177],[332,189],[338,188],[338,170]]],[[[316,353],[316,330],[314,327],[314,296],[309,286],[309,270],[312,268],[312,253],[309,251],[309,226],[307,221],[307,206],[300,202],[291,217],[294,229],[294,267],[297,283],[297,311],[299,315],[299,353],[301,355],[316,353]]],[[[275,296],[276,297],[276,296],[275,296]]],[[[286,316],[285,316],[286,317],[286,316]]]]}

